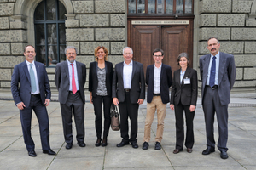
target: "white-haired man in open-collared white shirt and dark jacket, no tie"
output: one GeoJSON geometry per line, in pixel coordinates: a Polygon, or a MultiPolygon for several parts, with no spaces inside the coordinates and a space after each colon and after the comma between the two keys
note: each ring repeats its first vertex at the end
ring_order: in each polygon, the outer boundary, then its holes
{"type": "Polygon", "coordinates": [[[113,104],[119,105],[121,123],[122,147],[131,143],[133,148],[137,145],[137,110],[145,99],[145,80],[143,64],[132,61],[133,51],[126,47],[123,49],[125,61],[115,65],[113,73],[112,97],[113,104]],[[131,136],[128,134],[128,116],[131,120],[131,136]]]}

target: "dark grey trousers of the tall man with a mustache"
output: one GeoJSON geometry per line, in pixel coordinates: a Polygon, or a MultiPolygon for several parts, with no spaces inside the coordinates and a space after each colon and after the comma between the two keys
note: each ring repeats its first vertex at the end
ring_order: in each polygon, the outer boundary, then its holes
{"type": "Polygon", "coordinates": [[[214,140],[214,114],[216,112],[218,122],[218,150],[227,151],[228,142],[228,105],[221,105],[218,88],[212,90],[206,87],[203,100],[203,111],[205,114],[206,131],[207,131],[207,147],[215,147],[214,140]]]}

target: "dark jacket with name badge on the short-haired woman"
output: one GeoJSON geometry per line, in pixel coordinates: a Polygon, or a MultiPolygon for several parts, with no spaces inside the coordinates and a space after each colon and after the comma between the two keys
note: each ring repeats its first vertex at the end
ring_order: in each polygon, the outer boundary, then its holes
{"type": "Polygon", "coordinates": [[[174,71],[173,83],[172,83],[172,94],[171,104],[178,105],[180,102],[182,105],[196,105],[197,101],[197,71],[191,68],[187,68],[184,78],[190,79],[190,84],[180,84],[180,69],[174,71]]]}

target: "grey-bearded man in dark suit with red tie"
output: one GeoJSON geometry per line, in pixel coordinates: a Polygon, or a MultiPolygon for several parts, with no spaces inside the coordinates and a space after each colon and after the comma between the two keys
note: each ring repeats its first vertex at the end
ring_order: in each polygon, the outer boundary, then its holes
{"type": "Polygon", "coordinates": [[[68,46],[65,49],[67,60],[56,65],[55,85],[59,91],[61,116],[66,149],[73,146],[72,114],[76,124],[76,139],[80,147],[84,143],[84,84],[86,80],[86,67],[76,61],[77,49],[68,46]]]}

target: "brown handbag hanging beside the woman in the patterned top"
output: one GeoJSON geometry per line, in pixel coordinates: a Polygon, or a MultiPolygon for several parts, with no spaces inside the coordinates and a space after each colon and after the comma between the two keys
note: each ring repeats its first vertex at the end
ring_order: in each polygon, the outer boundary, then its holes
{"type": "Polygon", "coordinates": [[[112,130],[119,131],[120,121],[119,121],[119,107],[118,106],[112,104],[111,109],[110,109],[110,117],[111,117],[112,130]]]}

